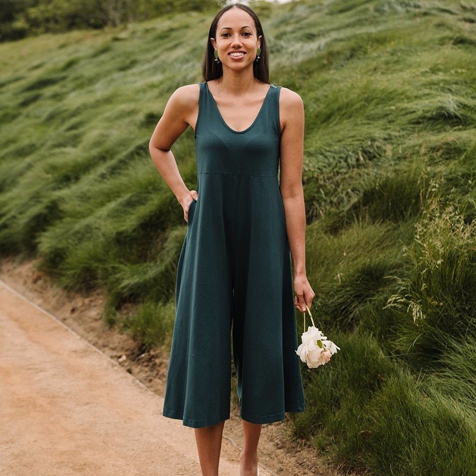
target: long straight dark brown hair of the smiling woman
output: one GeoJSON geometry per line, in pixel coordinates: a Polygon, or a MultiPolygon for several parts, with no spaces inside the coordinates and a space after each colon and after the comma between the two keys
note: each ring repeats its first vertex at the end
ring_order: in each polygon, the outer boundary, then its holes
{"type": "Polygon", "coordinates": [[[266,38],[263,34],[263,27],[259,21],[258,16],[255,12],[247,5],[242,3],[234,3],[222,8],[213,18],[212,24],[210,25],[210,31],[208,32],[208,37],[206,39],[206,50],[204,54],[204,60],[202,64],[202,70],[204,75],[204,81],[211,81],[212,79],[218,79],[223,74],[223,68],[220,63],[215,62],[214,48],[210,41],[210,38],[216,38],[217,35],[217,26],[221,16],[230,10],[231,8],[240,8],[244,10],[250,17],[253,18],[255,22],[256,34],[257,36],[261,35],[261,53],[259,55],[259,60],[253,63],[253,74],[255,78],[263,83],[270,82],[270,68],[268,60],[268,48],[266,46],[266,38]]]}

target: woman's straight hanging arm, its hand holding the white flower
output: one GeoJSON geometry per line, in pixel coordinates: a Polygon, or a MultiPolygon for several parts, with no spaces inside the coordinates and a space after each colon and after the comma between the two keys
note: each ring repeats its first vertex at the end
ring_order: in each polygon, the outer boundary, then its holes
{"type": "Polygon", "coordinates": [[[282,87],[279,99],[281,133],[279,189],[283,198],[292,257],[294,305],[306,311],[315,293],[306,275],[306,210],[303,191],[304,104],[299,94],[282,87]]]}

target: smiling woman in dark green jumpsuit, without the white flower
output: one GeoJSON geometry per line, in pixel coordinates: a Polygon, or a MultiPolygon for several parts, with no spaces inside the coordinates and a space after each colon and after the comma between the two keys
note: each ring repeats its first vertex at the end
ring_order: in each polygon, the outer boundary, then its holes
{"type": "Polygon", "coordinates": [[[203,72],[203,83],[172,94],[150,140],[187,221],[162,414],[195,428],[202,473],[218,475],[233,344],[240,475],[255,476],[261,425],[305,410],[294,315],[315,296],[305,266],[304,107],[269,83],[261,23],[245,5],[213,19],[203,72]],[[188,126],[198,190],[188,190],[170,151],[188,126]]]}

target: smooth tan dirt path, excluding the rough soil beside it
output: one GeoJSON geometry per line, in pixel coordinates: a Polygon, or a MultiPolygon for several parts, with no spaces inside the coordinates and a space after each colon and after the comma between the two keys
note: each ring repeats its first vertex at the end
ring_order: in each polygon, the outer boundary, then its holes
{"type": "Polygon", "coordinates": [[[2,283],[0,303],[0,474],[200,474],[193,429],[161,417],[162,397],[2,283]]]}

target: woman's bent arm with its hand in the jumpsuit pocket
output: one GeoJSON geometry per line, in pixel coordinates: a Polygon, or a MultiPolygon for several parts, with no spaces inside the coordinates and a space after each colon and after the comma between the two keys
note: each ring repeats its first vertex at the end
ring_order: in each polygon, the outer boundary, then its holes
{"type": "Polygon", "coordinates": [[[197,200],[198,193],[196,190],[188,190],[170,148],[189,125],[195,126],[198,116],[198,97],[199,85],[187,85],[176,89],[170,96],[164,114],[155,126],[149,141],[149,152],[153,163],[184,208],[186,221],[188,221],[188,205],[191,203],[191,198],[197,200]]]}

